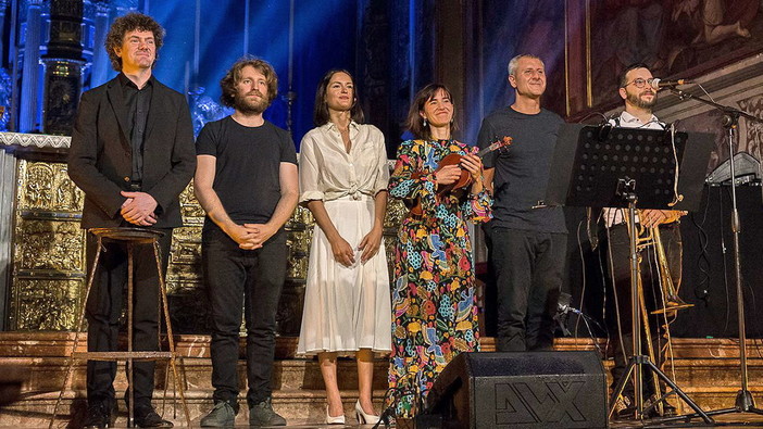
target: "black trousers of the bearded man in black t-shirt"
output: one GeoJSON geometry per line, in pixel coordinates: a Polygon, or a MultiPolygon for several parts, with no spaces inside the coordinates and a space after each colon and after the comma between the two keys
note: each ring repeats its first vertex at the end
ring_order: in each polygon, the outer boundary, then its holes
{"type": "Polygon", "coordinates": [[[202,264],[212,313],[212,386],[215,402],[237,408],[238,340],[241,307],[247,323],[247,402],[271,396],[276,311],[286,279],[288,250],[284,229],[261,249],[241,250],[217,227],[202,234],[202,264]]]}

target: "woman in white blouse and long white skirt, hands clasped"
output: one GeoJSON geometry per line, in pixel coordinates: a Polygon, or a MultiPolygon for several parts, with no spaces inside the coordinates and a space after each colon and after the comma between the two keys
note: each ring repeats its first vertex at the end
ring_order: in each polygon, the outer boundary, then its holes
{"type": "Polygon", "coordinates": [[[328,72],[315,94],[314,122],[300,147],[300,203],[316,227],[310,248],[297,352],[317,354],[326,386],[326,422],[345,424],[337,355],[358,361],[361,424],[378,420],[372,404],[374,352],[391,344],[389,274],[382,238],[387,205],[384,136],[362,124],[352,76],[328,72]]]}

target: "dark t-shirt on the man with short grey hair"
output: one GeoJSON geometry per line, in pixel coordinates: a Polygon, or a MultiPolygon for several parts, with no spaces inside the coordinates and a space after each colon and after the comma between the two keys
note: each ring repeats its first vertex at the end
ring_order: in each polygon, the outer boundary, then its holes
{"type": "Polygon", "coordinates": [[[485,168],[496,168],[492,225],[540,232],[566,232],[562,207],[533,209],[546,200],[549,169],[564,121],[545,109],[535,115],[504,108],[483,119],[477,144],[486,148],[509,136],[511,147],[484,157],[485,168]]]}

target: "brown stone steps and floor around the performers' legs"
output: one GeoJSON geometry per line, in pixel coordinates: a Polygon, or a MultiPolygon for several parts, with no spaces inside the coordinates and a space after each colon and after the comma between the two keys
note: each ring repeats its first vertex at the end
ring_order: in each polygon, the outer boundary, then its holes
{"type": "MultiPolygon", "coordinates": [[[[0,376],[8,376],[13,368],[20,369],[18,399],[0,407],[0,427],[14,428],[47,428],[53,407],[63,386],[65,374],[65,356],[73,346],[72,333],[66,332],[0,332],[0,376]]],[[[212,404],[213,388],[211,379],[211,361],[209,358],[209,337],[178,336],[177,352],[179,369],[184,375],[186,400],[188,401],[191,425],[198,427],[199,419],[205,415],[212,404]]],[[[601,341],[599,341],[601,342],[601,341]]],[[[291,428],[337,428],[342,426],[324,425],[325,391],[320,375],[317,362],[295,357],[297,340],[279,338],[277,340],[276,362],[274,366],[274,408],[287,418],[291,428]]],[[[763,346],[760,340],[748,340],[749,388],[753,398],[763,405],[763,346]]],[[[587,339],[558,339],[558,351],[604,349],[605,344],[595,343],[587,339]]],[[[738,340],[735,339],[674,339],[675,368],[668,376],[705,411],[717,409],[734,404],[739,390],[738,340]]],[[[84,344],[79,344],[84,349],[84,344]]],[[[483,350],[493,351],[492,339],[483,339],[483,350]]],[[[609,375],[611,361],[603,361],[609,375]]],[[[347,428],[371,428],[371,425],[359,426],[352,407],[358,398],[357,371],[353,362],[340,361],[340,389],[345,400],[347,428]]],[[[163,367],[162,367],[163,368],[163,367]]],[[[161,368],[160,368],[161,369],[161,368]]],[[[246,379],[243,361],[239,363],[241,386],[246,379]]],[[[374,400],[376,409],[382,409],[383,396],[386,389],[388,362],[379,357],[375,364],[374,400]]],[[[186,426],[179,404],[177,414],[172,414],[172,389],[168,374],[158,369],[158,386],[154,400],[158,409],[163,399],[168,407],[164,417],[173,420],[175,427],[186,426]]],[[[1,378],[1,377],[0,377],[1,378]]],[[[612,380],[609,379],[608,383],[612,380]]],[[[124,392],[126,388],[124,371],[117,371],[115,388],[124,392]]],[[[671,402],[681,409],[688,408],[675,398],[671,402]]],[[[74,377],[64,391],[62,407],[58,412],[55,428],[67,424],[82,421],[86,407],[85,402],[85,367],[78,363],[74,377]]],[[[115,427],[126,427],[124,404],[120,403],[121,414],[115,427]]],[[[237,418],[237,428],[247,428],[246,411],[237,418]]],[[[716,417],[716,427],[763,427],[763,416],[753,414],[733,414],[716,417]]],[[[675,422],[658,426],[654,422],[613,421],[612,428],[639,427],[702,427],[699,419],[690,424],[675,422]]],[[[549,426],[551,427],[551,426],[549,426]]],[[[706,426],[705,426],[706,427],[706,426]]]]}

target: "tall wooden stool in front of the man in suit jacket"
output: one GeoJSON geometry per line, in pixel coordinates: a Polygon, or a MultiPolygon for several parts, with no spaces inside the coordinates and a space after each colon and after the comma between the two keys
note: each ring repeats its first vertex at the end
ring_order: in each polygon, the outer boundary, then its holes
{"type": "MultiPolygon", "coordinates": [[[[164,236],[164,232],[146,229],[146,228],[132,228],[132,227],[121,227],[121,228],[91,228],[88,230],[89,234],[98,237],[98,250],[96,251],[96,257],[92,263],[92,268],[90,269],[90,278],[87,282],[87,290],[85,291],[85,301],[83,305],[83,311],[79,314],[79,320],[77,323],[77,330],[74,335],[74,345],[72,346],[72,353],[70,354],[68,365],[66,368],[66,376],[64,377],[63,386],[61,387],[61,392],[59,392],[59,399],[55,401],[55,407],[53,408],[53,417],[50,419],[49,428],[52,429],[53,421],[55,420],[55,415],[63,399],[64,390],[70,382],[72,377],[72,369],[74,367],[74,362],[76,359],[86,361],[125,361],[127,365],[127,380],[129,383],[129,411],[128,411],[128,426],[135,425],[135,389],[133,389],[133,362],[134,361],[159,361],[167,359],[170,366],[172,367],[174,390],[180,393],[180,403],[183,404],[183,411],[186,414],[186,422],[190,427],[190,415],[188,413],[188,404],[186,403],[186,398],[183,392],[183,383],[177,376],[177,367],[175,366],[175,341],[172,336],[172,325],[170,324],[170,310],[167,306],[167,294],[166,286],[164,283],[164,276],[162,273],[161,255],[159,252],[158,239],[164,236]],[[123,242],[127,244],[127,351],[126,352],[77,352],[77,344],[79,342],[79,335],[83,330],[83,320],[85,319],[85,312],[87,308],[87,300],[90,294],[90,289],[92,288],[92,281],[96,277],[96,269],[98,268],[98,261],[101,255],[101,249],[103,248],[103,240],[111,240],[116,242],[123,242]],[[168,352],[134,352],[133,351],[133,248],[136,244],[151,244],[153,248],[153,255],[157,260],[157,270],[159,272],[159,296],[161,305],[164,313],[164,321],[167,331],[167,342],[170,343],[168,352]]],[[[159,315],[162,318],[162,315],[159,315]]],[[[161,320],[159,323],[160,333],[161,333],[161,320]]],[[[158,339],[159,341],[159,339],[158,339]]],[[[161,349],[161,343],[159,344],[161,349]]]]}

